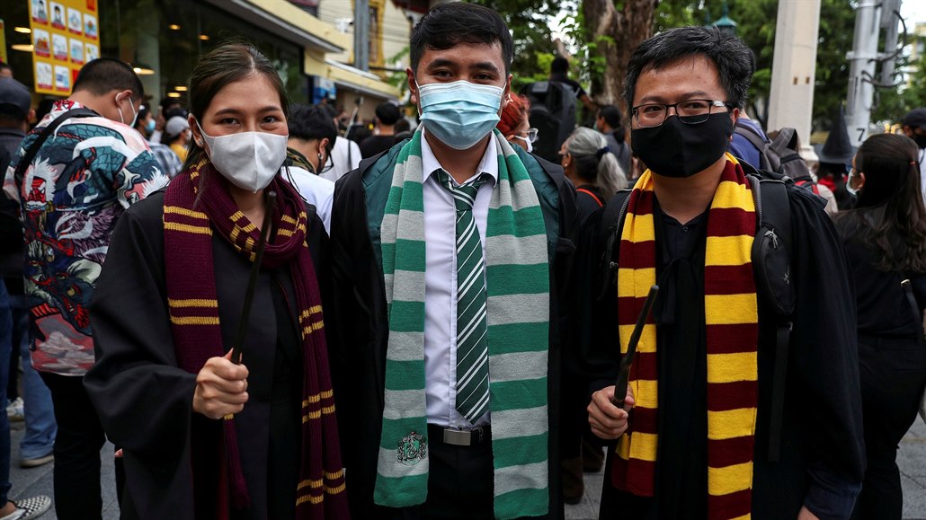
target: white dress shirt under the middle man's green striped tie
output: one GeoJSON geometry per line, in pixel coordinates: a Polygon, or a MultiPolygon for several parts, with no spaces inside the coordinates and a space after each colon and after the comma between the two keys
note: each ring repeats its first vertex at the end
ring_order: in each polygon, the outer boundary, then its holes
{"type": "MultiPolygon", "coordinates": [[[[441,427],[471,428],[457,412],[457,206],[434,172],[441,169],[425,135],[421,136],[424,184],[424,371],[428,422],[441,427]]],[[[476,219],[485,258],[485,227],[492,190],[498,181],[498,155],[489,141],[474,179],[482,173],[492,181],[476,193],[476,219]]],[[[476,426],[488,425],[489,413],[476,426]]]]}

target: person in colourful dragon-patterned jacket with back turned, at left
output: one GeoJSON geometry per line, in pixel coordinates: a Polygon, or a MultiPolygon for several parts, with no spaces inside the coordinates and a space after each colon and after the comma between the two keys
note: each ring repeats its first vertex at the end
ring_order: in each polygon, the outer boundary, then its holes
{"type": "Polygon", "coordinates": [[[100,518],[102,509],[99,452],[106,438],[82,385],[94,365],[87,304],[119,215],[168,181],[131,129],[143,98],[129,66],[91,61],[6,169],[4,191],[19,202],[25,229],[31,362],[55,405],[55,502],[62,519],[100,518]],[[72,112],[80,108],[89,111],[72,112]],[[53,122],[57,129],[39,142],[53,122]],[[37,142],[30,163],[19,167],[37,142]]]}

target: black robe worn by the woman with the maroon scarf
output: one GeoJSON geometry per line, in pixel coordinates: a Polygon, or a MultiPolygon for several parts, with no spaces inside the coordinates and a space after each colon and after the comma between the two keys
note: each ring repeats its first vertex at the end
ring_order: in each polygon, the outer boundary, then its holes
{"type": "MultiPolygon", "coordinates": [[[[132,205],[113,231],[91,304],[96,365],[84,386],[106,435],[125,453],[121,517],[193,520],[204,514],[194,513],[191,453],[204,456],[213,440],[218,444],[221,430],[219,421],[193,412],[196,375],[177,366],[164,270],[163,204],[163,192],[152,194],[132,205]],[[202,435],[191,436],[193,428],[202,435]]],[[[307,241],[320,279],[327,236],[315,208],[307,205],[307,213],[307,241]]],[[[251,264],[218,234],[212,250],[221,334],[229,346],[251,264]]],[[[274,513],[277,502],[286,500],[282,497],[289,491],[281,495],[277,488],[292,489],[293,499],[284,507],[294,507],[302,399],[294,298],[288,266],[261,273],[242,354],[250,373],[249,401],[235,415],[251,507],[235,512],[235,518],[280,516],[274,513]]]]}

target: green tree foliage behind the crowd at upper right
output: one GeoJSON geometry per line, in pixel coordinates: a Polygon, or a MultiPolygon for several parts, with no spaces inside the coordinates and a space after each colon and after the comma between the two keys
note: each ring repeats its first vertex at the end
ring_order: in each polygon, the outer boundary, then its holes
{"type": "MultiPolygon", "coordinates": [[[[589,41],[590,31],[582,17],[581,0],[474,0],[502,13],[515,38],[515,63],[512,72],[520,85],[546,77],[555,56],[549,20],[564,27],[571,40],[571,76],[583,84],[607,73],[605,60],[595,49],[601,40],[589,41]]],[[[629,0],[615,0],[619,10],[629,0]]],[[[704,25],[720,19],[723,0],[664,0],[658,2],[654,31],[666,31],[687,25],[704,25]]],[[[727,0],[728,16],[737,23],[737,34],[756,53],[756,74],[749,92],[750,114],[763,124],[768,112],[771,66],[775,51],[775,23],[778,0],[727,0]]],[[[820,33],[817,49],[814,89],[814,127],[829,129],[840,105],[845,104],[849,80],[846,54],[852,49],[855,33],[855,8],[858,0],[821,0],[820,33]]],[[[879,89],[872,120],[895,120],[916,106],[926,105],[926,62],[909,88],[879,89]]]]}

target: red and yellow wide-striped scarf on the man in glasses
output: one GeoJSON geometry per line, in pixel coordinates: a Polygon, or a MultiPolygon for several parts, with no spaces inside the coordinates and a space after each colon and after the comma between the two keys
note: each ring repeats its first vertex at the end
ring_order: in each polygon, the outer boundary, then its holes
{"type": "MultiPolygon", "coordinates": [[[[707,516],[749,518],[757,416],[758,315],[750,252],[756,206],[743,168],[727,164],[707,214],[704,266],[707,329],[707,516]]],[[[653,178],[647,170],[630,196],[620,237],[618,321],[627,352],[646,294],[656,283],[653,178]]],[[[654,496],[658,446],[657,327],[652,316],[630,374],[635,396],[631,430],[618,441],[615,487],[654,496]]],[[[668,425],[663,425],[668,427],[668,425]]]]}

